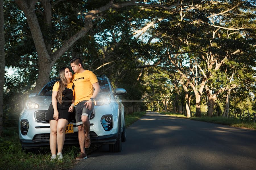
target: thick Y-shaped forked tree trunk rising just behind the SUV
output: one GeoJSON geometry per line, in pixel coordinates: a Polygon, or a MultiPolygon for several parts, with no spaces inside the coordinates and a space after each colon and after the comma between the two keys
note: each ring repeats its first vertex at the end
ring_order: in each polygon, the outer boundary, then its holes
{"type": "MultiPolygon", "coordinates": [[[[52,42],[50,39],[45,40],[40,28],[36,13],[35,1],[15,0],[26,16],[28,26],[34,40],[36,52],[38,55],[38,78],[36,80],[35,92],[39,92],[41,88],[49,81],[49,75],[55,61],[61,57],[67,49],[69,49],[78,39],[86,35],[92,28],[92,16],[87,15],[85,27],[69,38],[54,54],[50,54],[52,42]]],[[[42,1],[44,6],[44,22],[46,27],[51,28],[51,4],[49,1],[42,1]]]]}

